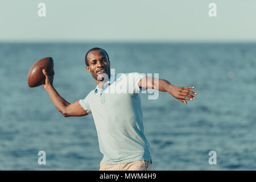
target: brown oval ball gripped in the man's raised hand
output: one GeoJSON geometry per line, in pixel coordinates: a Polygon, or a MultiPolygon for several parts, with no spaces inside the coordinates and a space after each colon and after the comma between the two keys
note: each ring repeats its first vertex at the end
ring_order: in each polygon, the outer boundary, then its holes
{"type": "Polygon", "coordinates": [[[52,57],[44,57],[39,59],[32,65],[27,76],[27,83],[30,87],[36,87],[44,84],[46,76],[42,70],[46,69],[49,76],[53,73],[53,59],[52,57]]]}

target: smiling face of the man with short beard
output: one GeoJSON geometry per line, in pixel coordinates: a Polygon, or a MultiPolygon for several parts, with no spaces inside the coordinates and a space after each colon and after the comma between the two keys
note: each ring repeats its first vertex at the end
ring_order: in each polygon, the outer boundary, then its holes
{"type": "Polygon", "coordinates": [[[87,55],[87,61],[89,67],[86,67],[86,69],[92,74],[95,80],[98,80],[97,78],[102,77],[102,73],[108,75],[108,78],[110,77],[110,62],[105,51],[90,51],[87,55]]]}

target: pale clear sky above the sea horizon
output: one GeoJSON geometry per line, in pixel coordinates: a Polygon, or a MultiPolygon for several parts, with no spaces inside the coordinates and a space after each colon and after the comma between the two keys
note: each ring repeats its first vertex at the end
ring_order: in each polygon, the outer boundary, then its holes
{"type": "Polygon", "coordinates": [[[255,18],[255,0],[1,0],[0,42],[255,42],[255,18]]]}

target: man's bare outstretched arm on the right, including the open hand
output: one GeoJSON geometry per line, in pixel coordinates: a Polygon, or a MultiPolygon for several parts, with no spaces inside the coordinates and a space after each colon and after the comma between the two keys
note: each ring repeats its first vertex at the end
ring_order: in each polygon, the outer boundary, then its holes
{"type": "Polygon", "coordinates": [[[139,81],[139,87],[156,89],[162,92],[168,92],[177,100],[184,102],[185,104],[187,104],[186,100],[192,101],[192,98],[196,98],[191,94],[197,95],[197,93],[188,90],[194,89],[195,86],[174,86],[170,84],[170,82],[168,82],[167,80],[147,76],[142,77],[142,79],[139,81]]]}

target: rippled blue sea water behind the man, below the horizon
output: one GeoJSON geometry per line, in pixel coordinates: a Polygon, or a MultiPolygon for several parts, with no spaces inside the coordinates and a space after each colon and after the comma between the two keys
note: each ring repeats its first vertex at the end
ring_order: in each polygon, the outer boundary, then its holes
{"type": "Polygon", "coordinates": [[[115,73],[159,73],[175,86],[195,86],[187,105],[165,92],[156,100],[141,94],[152,170],[256,169],[256,44],[1,43],[1,170],[98,170],[92,115],[64,118],[43,86],[27,85],[31,65],[51,56],[57,92],[68,102],[84,98],[96,87],[84,63],[92,47],[109,53],[115,73]]]}

